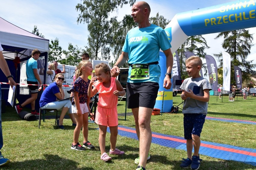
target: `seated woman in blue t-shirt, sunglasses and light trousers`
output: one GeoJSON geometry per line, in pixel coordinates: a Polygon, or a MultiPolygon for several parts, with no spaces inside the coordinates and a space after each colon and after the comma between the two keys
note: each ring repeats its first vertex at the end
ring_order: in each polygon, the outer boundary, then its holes
{"type": "Polygon", "coordinates": [[[69,99],[62,100],[65,97],[64,91],[62,89],[62,84],[64,81],[64,75],[61,73],[57,74],[54,78],[54,82],[50,84],[45,90],[43,91],[39,104],[41,109],[57,109],[61,110],[61,114],[59,119],[57,120],[58,127],[60,129],[64,129],[63,126],[63,119],[65,114],[69,113],[69,117],[73,122],[73,126],[76,125],[75,117],[72,114],[71,109],[71,101],[69,99]],[[62,101],[57,101],[57,98],[62,101]]]}

